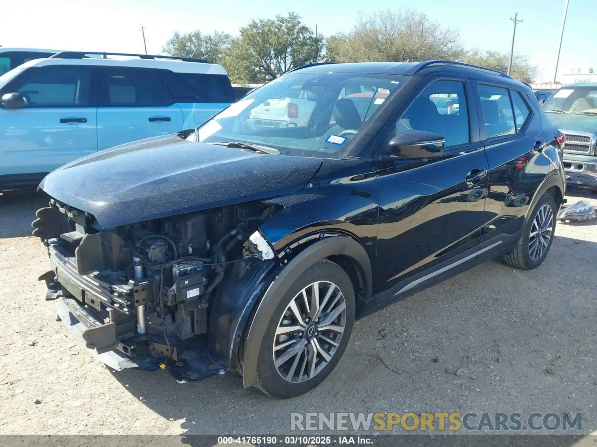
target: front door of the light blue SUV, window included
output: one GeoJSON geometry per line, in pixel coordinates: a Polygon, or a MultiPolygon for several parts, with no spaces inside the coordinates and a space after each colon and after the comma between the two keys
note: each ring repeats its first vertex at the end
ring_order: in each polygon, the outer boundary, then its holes
{"type": "Polygon", "coordinates": [[[31,67],[4,86],[24,108],[0,108],[0,175],[47,173],[97,151],[92,67],[31,67]]]}

